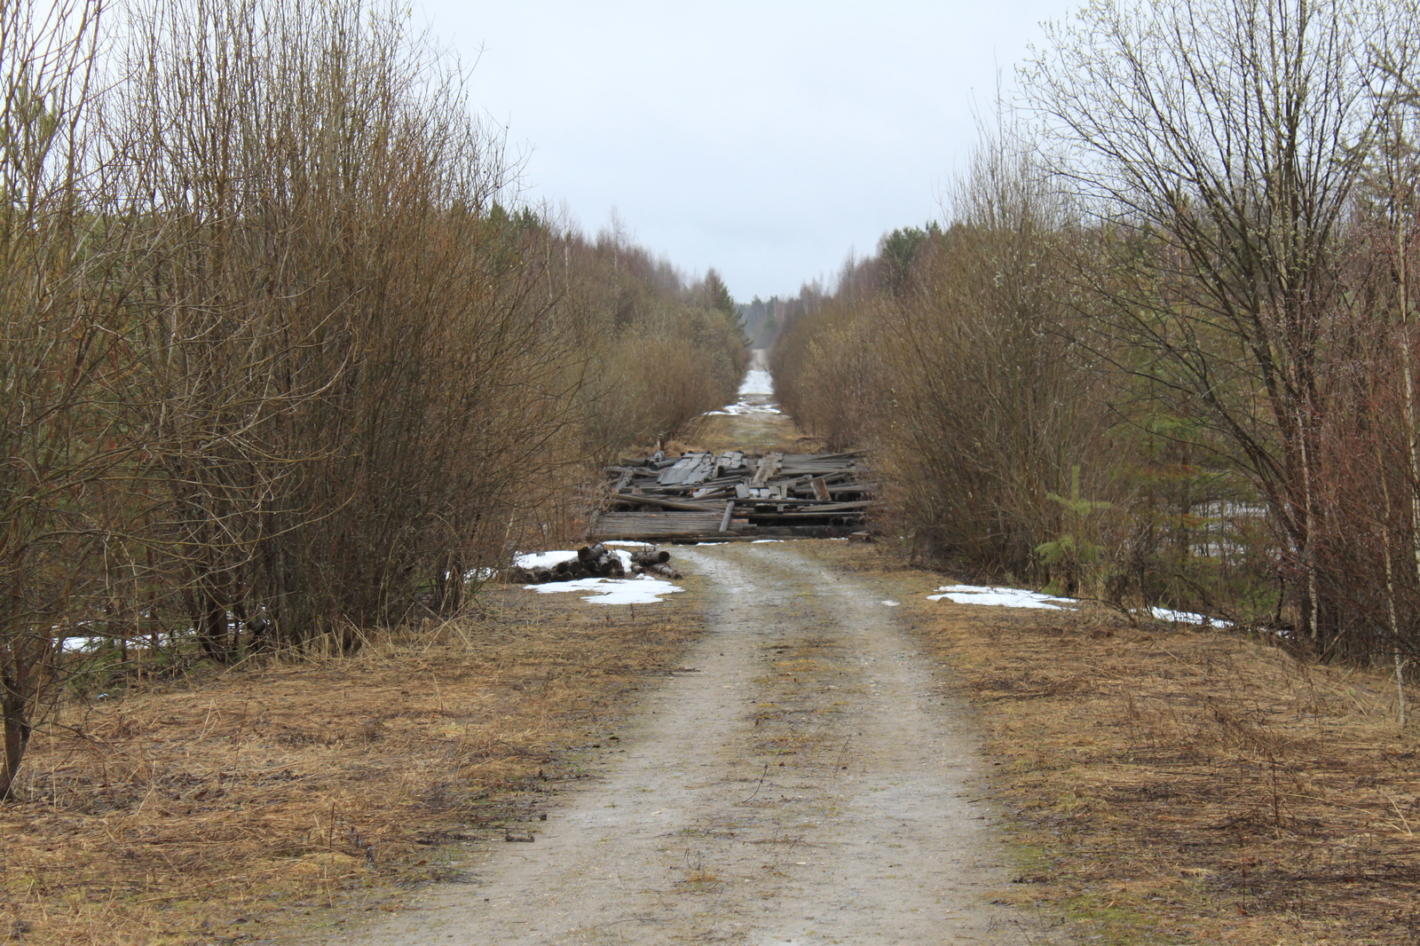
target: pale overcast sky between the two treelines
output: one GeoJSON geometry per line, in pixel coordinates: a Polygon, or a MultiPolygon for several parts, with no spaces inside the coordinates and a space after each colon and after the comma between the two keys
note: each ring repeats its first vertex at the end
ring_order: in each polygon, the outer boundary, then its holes
{"type": "Polygon", "coordinates": [[[615,210],[740,301],[832,281],[940,219],[998,77],[1066,0],[415,0],[527,155],[525,197],[588,233],[615,210]]]}

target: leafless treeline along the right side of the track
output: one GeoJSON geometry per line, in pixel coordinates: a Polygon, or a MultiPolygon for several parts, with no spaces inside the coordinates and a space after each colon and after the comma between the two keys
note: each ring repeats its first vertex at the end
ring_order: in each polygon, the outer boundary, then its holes
{"type": "Polygon", "coordinates": [[[1416,11],[1103,0],[772,365],[913,551],[1420,648],[1416,11]]]}

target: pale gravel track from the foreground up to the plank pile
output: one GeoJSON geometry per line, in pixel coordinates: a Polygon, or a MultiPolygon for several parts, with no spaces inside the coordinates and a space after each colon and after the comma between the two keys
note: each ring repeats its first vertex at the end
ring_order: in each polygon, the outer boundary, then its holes
{"type": "Polygon", "coordinates": [[[991,902],[1010,874],[977,744],[893,608],[794,543],[677,557],[713,626],[605,777],[535,844],[338,942],[1054,942],[991,902]]]}

